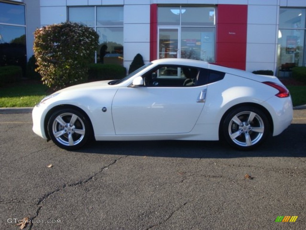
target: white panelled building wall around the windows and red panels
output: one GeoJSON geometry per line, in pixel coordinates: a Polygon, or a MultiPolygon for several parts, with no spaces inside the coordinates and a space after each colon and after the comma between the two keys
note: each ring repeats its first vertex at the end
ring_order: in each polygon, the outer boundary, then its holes
{"type": "Polygon", "coordinates": [[[306,7],[306,0],[40,0],[40,25],[67,21],[67,6],[124,6],[124,66],[137,53],[150,58],[150,4],[248,5],[246,70],[276,74],[279,7],[306,7]]]}

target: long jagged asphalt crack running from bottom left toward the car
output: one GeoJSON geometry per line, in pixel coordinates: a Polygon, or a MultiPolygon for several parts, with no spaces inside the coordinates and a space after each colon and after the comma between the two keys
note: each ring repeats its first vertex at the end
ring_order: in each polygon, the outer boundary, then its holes
{"type": "Polygon", "coordinates": [[[106,168],[108,168],[108,167],[114,165],[115,163],[118,162],[118,160],[120,160],[120,159],[122,159],[122,158],[126,158],[126,157],[128,157],[128,155],[119,157],[118,159],[115,159],[112,163],[110,163],[109,165],[107,165],[107,166],[105,166],[105,167],[102,167],[97,173],[95,173],[94,175],[88,177],[88,178],[85,179],[85,180],[80,180],[80,181],[78,181],[78,182],[76,182],[76,183],[72,183],[72,184],[68,184],[68,185],[65,184],[65,185],[63,185],[62,187],[60,187],[60,188],[58,188],[58,189],[56,189],[56,190],[54,190],[54,191],[52,191],[52,192],[50,192],[50,193],[44,195],[43,197],[41,197],[41,198],[38,200],[38,202],[35,204],[36,206],[39,205],[39,207],[38,207],[38,209],[36,210],[36,215],[35,215],[34,217],[31,217],[31,218],[30,218],[31,224],[30,224],[29,229],[32,229],[32,227],[33,227],[33,220],[34,220],[36,217],[38,217],[40,210],[43,208],[43,206],[41,205],[42,202],[45,201],[48,197],[50,197],[52,194],[54,194],[54,193],[56,193],[56,192],[58,192],[58,191],[60,191],[60,190],[62,190],[62,189],[65,189],[65,188],[67,188],[67,187],[73,187],[73,186],[77,186],[77,185],[84,185],[84,184],[88,183],[89,181],[91,181],[96,175],[98,175],[99,173],[103,172],[104,169],[106,169],[106,168]]]}

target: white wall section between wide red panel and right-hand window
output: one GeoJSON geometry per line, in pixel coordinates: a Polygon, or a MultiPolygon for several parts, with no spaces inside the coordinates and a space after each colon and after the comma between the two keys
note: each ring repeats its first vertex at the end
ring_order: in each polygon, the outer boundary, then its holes
{"type": "Polygon", "coordinates": [[[246,71],[276,71],[278,0],[249,0],[246,71]]]}

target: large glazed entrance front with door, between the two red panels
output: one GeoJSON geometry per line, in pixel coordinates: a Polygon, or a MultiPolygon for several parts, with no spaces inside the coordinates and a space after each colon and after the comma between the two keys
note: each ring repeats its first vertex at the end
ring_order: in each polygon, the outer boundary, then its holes
{"type": "Polygon", "coordinates": [[[158,57],[215,62],[215,7],[159,6],[158,57]]]}

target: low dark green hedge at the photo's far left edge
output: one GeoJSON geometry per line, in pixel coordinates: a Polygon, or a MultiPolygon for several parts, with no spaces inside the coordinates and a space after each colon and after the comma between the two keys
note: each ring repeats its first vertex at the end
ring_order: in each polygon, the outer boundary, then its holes
{"type": "Polygon", "coordinates": [[[0,86],[6,83],[13,83],[22,77],[22,68],[20,66],[2,66],[0,67],[0,86]]]}

